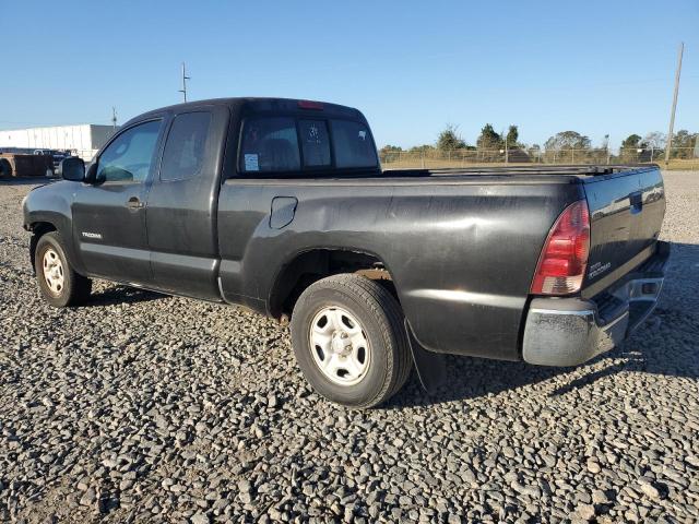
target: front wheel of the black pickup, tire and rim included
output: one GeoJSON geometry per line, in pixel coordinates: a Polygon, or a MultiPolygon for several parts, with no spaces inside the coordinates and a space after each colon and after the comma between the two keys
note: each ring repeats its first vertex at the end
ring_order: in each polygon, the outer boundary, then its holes
{"type": "Polygon", "coordinates": [[[90,297],[92,281],[72,269],[57,231],[47,233],[38,239],[34,269],[42,296],[55,308],[80,306],[90,297]]]}

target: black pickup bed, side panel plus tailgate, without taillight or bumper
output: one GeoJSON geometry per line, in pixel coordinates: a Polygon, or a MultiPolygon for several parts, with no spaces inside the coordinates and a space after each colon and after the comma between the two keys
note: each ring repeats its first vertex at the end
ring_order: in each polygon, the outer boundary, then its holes
{"type": "Polygon", "coordinates": [[[542,246],[558,215],[580,200],[591,221],[582,293],[594,295],[652,254],[665,205],[657,166],[230,178],[218,200],[222,293],[274,317],[277,271],[270,261],[286,265],[289,253],[350,248],[383,261],[424,347],[518,359],[518,326],[542,246]],[[288,204],[271,216],[275,199],[288,204]],[[289,225],[274,229],[276,222],[289,225]]]}

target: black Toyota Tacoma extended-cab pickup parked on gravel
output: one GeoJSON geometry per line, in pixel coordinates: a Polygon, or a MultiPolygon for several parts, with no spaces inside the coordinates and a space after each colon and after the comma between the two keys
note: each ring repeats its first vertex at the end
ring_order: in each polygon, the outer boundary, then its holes
{"type": "Polygon", "coordinates": [[[362,112],[317,102],[157,109],[61,171],[23,204],[49,303],[106,278],[291,321],[352,406],[426,355],[584,362],[651,312],[670,251],[657,166],[382,171],[362,112]]]}

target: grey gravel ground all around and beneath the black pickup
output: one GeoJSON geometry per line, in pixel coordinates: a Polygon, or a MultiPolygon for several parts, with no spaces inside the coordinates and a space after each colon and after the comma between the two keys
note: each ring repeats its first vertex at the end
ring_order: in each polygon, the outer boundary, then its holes
{"type": "Polygon", "coordinates": [[[666,175],[655,314],[576,369],[449,359],[345,410],[251,313],[99,283],[55,310],[0,182],[0,521],[696,522],[699,172],[666,175]]]}

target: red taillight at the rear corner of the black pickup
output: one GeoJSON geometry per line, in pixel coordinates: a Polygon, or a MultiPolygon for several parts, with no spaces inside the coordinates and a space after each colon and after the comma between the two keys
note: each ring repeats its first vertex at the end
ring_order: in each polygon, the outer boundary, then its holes
{"type": "Polygon", "coordinates": [[[580,290],[590,252],[590,213],[584,200],[570,204],[550,228],[531,291],[568,295],[580,290]]]}

